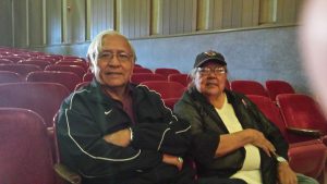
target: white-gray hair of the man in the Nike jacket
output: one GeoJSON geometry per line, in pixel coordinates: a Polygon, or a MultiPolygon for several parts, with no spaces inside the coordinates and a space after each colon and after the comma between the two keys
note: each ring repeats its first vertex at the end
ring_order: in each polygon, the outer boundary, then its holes
{"type": "Polygon", "coordinates": [[[92,63],[92,72],[94,72],[94,66],[97,64],[97,60],[98,60],[98,56],[99,53],[102,51],[102,38],[104,36],[107,36],[107,35],[110,35],[110,36],[114,36],[114,35],[118,35],[118,36],[122,36],[126,39],[128,44],[130,45],[130,48],[133,52],[133,58],[134,58],[134,63],[136,61],[136,54],[135,54],[135,50],[134,50],[134,47],[132,46],[132,44],[130,42],[130,40],[121,35],[120,33],[116,32],[116,30],[104,30],[101,33],[99,33],[93,40],[92,42],[89,44],[89,47],[88,47],[88,50],[87,50],[87,58],[88,60],[90,61],[92,63]]]}

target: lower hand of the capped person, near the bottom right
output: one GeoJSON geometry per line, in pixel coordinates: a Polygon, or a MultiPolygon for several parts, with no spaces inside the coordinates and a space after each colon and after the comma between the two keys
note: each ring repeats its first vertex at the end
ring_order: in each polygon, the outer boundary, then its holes
{"type": "Polygon", "coordinates": [[[298,184],[296,174],[288,162],[278,163],[278,179],[280,184],[298,184]]]}

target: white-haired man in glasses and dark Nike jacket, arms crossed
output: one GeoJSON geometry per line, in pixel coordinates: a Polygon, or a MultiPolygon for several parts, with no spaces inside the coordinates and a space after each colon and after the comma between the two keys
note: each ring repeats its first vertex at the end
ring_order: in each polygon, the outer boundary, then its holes
{"type": "Polygon", "coordinates": [[[179,122],[156,93],[130,84],[135,52],[106,30],[88,49],[95,79],[62,103],[57,122],[61,161],[84,184],[192,184],[183,165],[190,125],[179,122]]]}

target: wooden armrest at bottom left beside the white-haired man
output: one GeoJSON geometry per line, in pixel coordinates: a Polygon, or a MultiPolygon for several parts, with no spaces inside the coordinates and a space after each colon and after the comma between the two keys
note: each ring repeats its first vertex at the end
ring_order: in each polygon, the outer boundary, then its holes
{"type": "Polygon", "coordinates": [[[71,169],[61,163],[56,163],[53,169],[57,175],[68,184],[81,184],[82,177],[71,169]]]}

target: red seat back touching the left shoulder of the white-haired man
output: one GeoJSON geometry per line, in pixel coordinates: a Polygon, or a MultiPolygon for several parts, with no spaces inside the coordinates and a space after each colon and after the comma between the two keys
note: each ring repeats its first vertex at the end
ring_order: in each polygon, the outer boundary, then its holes
{"type": "Polygon", "coordinates": [[[70,91],[73,91],[75,86],[82,81],[72,72],[37,71],[31,72],[26,76],[26,82],[59,83],[64,85],[70,91]]]}

